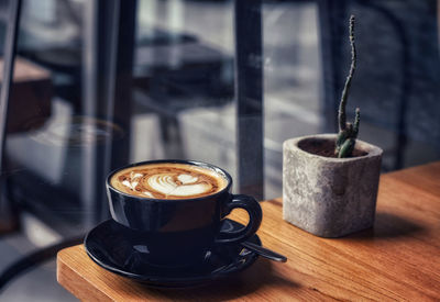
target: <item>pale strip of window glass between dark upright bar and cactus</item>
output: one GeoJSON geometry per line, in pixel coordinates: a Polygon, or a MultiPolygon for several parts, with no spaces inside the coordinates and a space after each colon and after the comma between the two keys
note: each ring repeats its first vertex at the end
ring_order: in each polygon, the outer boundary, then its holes
{"type": "Polygon", "coordinates": [[[263,5],[266,199],[282,195],[283,142],[323,128],[317,18],[314,2],[263,5]]]}

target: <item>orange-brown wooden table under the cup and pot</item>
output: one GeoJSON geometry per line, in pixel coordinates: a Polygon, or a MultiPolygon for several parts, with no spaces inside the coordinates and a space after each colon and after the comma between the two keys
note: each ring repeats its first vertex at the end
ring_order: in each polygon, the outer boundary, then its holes
{"type": "MultiPolygon", "coordinates": [[[[82,246],[59,251],[58,282],[84,301],[440,300],[440,161],[383,175],[374,228],[344,238],[310,235],[282,219],[282,200],[262,202],[258,235],[286,264],[258,258],[208,287],[156,290],[108,272],[82,246]]],[[[245,220],[242,212],[234,219],[245,220]]]]}

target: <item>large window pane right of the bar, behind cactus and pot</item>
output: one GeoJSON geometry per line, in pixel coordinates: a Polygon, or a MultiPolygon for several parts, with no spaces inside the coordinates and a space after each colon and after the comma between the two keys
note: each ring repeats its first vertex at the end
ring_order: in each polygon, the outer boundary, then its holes
{"type": "Polygon", "coordinates": [[[337,133],[356,16],[358,67],[346,114],[359,138],[384,149],[383,171],[440,158],[436,1],[265,1],[265,188],[282,195],[282,143],[337,133]]]}

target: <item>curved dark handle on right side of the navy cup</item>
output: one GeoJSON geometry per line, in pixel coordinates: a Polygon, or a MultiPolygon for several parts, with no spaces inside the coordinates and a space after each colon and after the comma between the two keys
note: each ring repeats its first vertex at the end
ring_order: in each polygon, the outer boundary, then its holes
{"type": "Polygon", "coordinates": [[[221,231],[216,239],[216,244],[242,243],[254,235],[260,227],[263,219],[263,212],[260,203],[250,195],[237,194],[226,204],[224,216],[233,209],[244,209],[249,213],[249,223],[245,227],[238,231],[221,231]]]}

